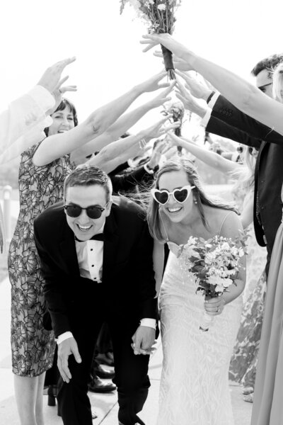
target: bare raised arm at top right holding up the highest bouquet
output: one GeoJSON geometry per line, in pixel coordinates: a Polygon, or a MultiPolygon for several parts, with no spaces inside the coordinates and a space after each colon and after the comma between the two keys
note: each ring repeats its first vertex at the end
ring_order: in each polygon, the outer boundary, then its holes
{"type": "Polygon", "coordinates": [[[233,105],[283,135],[282,103],[265,96],[255,86],[228,69],[195,55],[169,34],[144,35],[143,43],[148,45],[144,51],[158,44],[164,45],[187,62],[190,69],[200,72],[233,105]]]}

